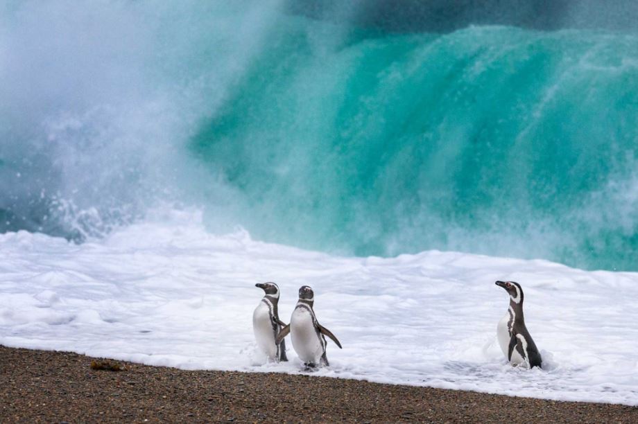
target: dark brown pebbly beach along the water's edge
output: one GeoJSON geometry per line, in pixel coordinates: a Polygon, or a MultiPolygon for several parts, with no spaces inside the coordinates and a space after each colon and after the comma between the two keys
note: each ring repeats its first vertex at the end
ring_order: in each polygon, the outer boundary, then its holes
{"type": "Polygon", "coordinates": [[[0,346],[0,423],[638,423],[638,407],[280,373],[182,371],[0,346]]]}

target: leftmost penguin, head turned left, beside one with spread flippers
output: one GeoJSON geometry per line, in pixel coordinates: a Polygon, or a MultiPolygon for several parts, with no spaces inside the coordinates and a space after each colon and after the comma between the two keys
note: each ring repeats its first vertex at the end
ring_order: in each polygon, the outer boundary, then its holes
{"type": "Polygon", "coordinates": [[[264,289],[264,298],[261,299],[255,312],[252,312],[252,330],[255,332],[257,345],[268,355],[270,361],[287,361],[286,343],[284,340],[275,343],[277,335],[285,327],[279,319],[277,303],[279,303],[279,287],[275,283],[257,283],[255,287],[264,289]]]}

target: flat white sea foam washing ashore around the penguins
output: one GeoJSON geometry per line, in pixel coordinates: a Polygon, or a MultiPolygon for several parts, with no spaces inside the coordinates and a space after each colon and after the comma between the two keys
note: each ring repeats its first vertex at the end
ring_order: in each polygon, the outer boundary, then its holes
{"type": "Polygon", "coordinates": [[[638,274],[544,260],[426,251],[345,258],[207,233],[198,214],[146,222],[83,245],[0,235],[0,344],[182,369],[302,372],[264,364],[252,310],[276,281],[289,321],[300,285],[316,292],[329,368],[315,375],[638,405],[638,274]],[[545,369],[506,364],[496,326],[525,291],[545,369]]]}

